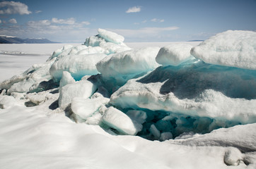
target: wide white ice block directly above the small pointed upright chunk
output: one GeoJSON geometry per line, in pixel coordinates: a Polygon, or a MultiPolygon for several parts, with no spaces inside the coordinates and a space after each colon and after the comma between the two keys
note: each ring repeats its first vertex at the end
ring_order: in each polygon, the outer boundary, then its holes
{"type": "Polygon", "coordinates": [[[75,80],[80,80],[84,75],[96,75],[98,70],[95,64],[105,56],[105,54],[68,55],[54,62],[50,74],[56,80],[62,78],[63,71],[71,73],[75,80]]]}

